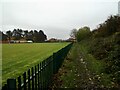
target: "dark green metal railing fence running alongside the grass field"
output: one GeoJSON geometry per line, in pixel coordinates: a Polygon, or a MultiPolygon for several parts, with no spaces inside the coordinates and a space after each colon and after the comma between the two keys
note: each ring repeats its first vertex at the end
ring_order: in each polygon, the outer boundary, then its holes
{"type": "Polygon", "coordinates": [[[72,43],[62,48],[52,56],[32,67],[17,79],[8,79],[2,90],[42,90],[52,83],[52,77],[61,67],[72,43]]]}

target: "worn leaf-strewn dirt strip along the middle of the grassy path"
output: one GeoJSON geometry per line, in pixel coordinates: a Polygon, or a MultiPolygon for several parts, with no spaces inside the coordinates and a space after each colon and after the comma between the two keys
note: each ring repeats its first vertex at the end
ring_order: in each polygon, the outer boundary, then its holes
{"type": "Polygon", "coordinates": [[[100,87],[100,77],[97,75],[96,78],[94,78],[95,74],[87,68],[87,62],[81,57],[80,54],[76,60],[76,68],[78,69],[78,79],[76,79],[78,88],[94,89],[100,87]]]}

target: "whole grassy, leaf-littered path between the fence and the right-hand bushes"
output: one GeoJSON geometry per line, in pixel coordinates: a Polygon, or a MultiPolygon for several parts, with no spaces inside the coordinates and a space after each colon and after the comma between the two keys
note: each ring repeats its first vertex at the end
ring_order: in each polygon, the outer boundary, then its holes
{"type": "Polygon", "coordinates": [[[109,88],[109,86],[102,85],[100,75],[88,68],[89,63],[82,54],[77,45],[72,48],[55,75],[53,86],[50,88],[81,88],[85,90],[109,88]]]}

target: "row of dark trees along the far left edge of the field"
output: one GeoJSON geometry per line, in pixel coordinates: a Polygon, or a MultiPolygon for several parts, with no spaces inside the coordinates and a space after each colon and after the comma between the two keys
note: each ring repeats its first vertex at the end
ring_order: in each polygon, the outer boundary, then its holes
{"type": "Polygon", "coordinates": [[[47,40],[47,36],[44,34],[42,30],[22,30],[22,29],[14,29],[13,31],[6,31],[4,34],[0,31],[0,35],[2,36],[2,41],[11,41],[11,40],[31,40],[33,42],[44,42],[47,40]]]}

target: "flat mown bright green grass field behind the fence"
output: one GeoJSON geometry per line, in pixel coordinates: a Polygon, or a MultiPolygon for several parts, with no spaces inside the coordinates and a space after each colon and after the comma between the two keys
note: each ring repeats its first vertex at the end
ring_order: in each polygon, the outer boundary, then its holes
{"type": "Polygon", "coordinates": [[[68,43],[34,43],[2,45],[2,83],[16,78],[30,67],[65,47],[68,43]]]}

